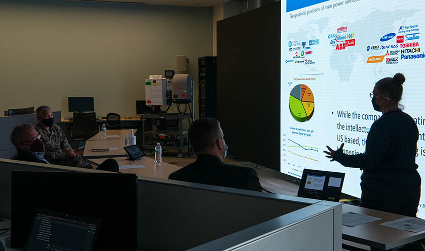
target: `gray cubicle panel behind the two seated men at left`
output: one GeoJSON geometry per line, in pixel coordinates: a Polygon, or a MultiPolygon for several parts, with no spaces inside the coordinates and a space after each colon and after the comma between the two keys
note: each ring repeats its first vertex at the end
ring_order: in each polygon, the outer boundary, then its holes
{"type": "MultiPolygon", "coordinates": [[[[60,111],[53,112],[54,122],[60,122],[60,111]]],[[[16,155],[16,149],[10,141],[13,128],[20,123],[37,124],[37,117],[33,114],[0,117],[0,158],[9,159],[16,155]]]]}

